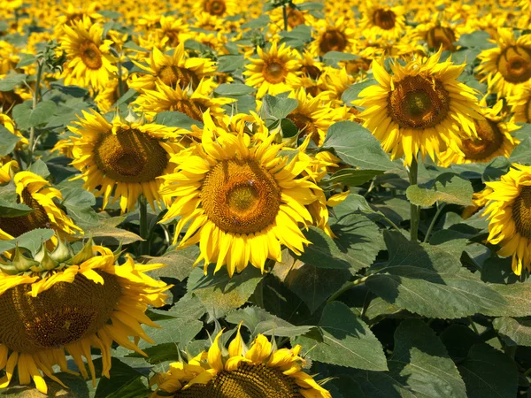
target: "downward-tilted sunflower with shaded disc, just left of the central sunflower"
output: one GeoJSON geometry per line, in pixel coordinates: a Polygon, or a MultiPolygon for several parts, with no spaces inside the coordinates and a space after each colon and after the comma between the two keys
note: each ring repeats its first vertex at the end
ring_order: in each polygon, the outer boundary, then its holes
{"type": "Polygon", "coordinates": [[[122,211],[135,209],[144,195],[151,207],[158,201],[158,177],[170,172],[170,157],[181,150],[174,142],[175,128],[153,123],[126,123],[119,118],[109,123],[96,111],[82,111],[78,126],[69,126],[74,165],[85,180],[84,188],[104,195],[104,207],[114,189],[112,203],[119,199],[122,211]]]}

